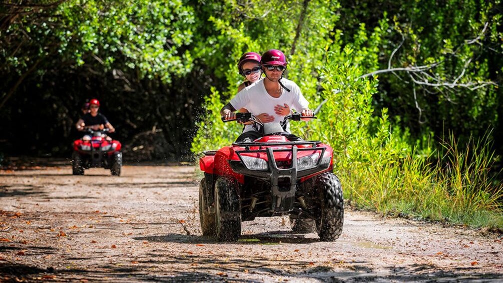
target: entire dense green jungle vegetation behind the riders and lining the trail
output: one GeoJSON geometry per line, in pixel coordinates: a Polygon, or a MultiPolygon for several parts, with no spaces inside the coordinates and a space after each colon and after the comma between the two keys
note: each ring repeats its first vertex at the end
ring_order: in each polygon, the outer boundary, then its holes
{"type": "Polygon", "coordinates": [[[285,52],[347,203],[503,228],[500,0],[2,0],[0,155],[67,157],[98,98],[129,160],[190,160],[240,126],[239,56],[285,52]]]}

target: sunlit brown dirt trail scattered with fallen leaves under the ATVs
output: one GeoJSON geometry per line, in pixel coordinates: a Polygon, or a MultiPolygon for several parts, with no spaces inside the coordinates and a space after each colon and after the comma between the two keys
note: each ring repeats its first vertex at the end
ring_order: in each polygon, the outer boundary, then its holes
{"type": "MultiPolygon", "coordinates": [[[[333,243],[287,218],[202,237],[190,166],[0,172],[0,281],[501,281],[501,237],[346,210],[333,243]]],[[[343,180],[344,187],[344,180],[343,180]]]]}

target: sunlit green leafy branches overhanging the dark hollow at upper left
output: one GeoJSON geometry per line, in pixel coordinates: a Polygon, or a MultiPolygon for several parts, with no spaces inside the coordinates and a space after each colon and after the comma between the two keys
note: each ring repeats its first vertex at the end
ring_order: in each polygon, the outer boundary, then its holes
{"type": "MultiPolygon", "coordinates": [[[[12,24],[5,36],[30,38],[28,52],[4,50],[3,68],[27,68],[33,58],[57,54],[58,60],[76,66],[101,65],[105,70],[128,67],[140,76],[159,76],[170,82],[172,76],[187,74],[192,56],[183,48],[193,38],[193,10],[182,1],[66,1],[47,18],[23,17],[12,24]],[[167,72],[166,72],[167,71],[167,72]]],[[[44,59],[46,63],[50,63],[44,59]]]]}

